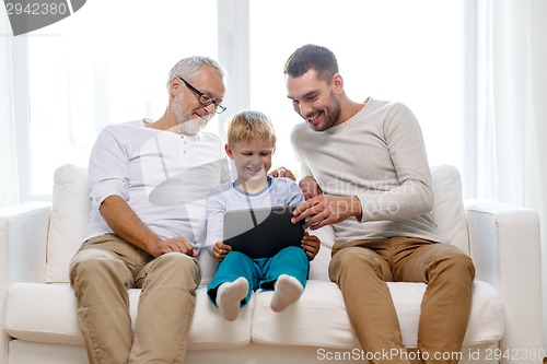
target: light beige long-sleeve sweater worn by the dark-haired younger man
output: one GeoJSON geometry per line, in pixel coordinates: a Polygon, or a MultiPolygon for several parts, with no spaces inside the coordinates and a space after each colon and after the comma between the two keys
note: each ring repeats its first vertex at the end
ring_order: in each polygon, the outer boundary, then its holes
{"type": "Polygon", "coordinates": [[[370,99],[325,131],[307,124],[291,134],[302,173],[325,193],[356,195],[362,220],[335,224],[336,242],[393,236],[442,238],[431,215],[431,173],[418,120],[403,104],[370,99]]]}

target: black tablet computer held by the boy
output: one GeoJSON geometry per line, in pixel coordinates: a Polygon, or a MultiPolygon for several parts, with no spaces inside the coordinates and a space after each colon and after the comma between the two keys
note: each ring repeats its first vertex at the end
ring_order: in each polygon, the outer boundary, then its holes
{"type": "Polygon", "coordinates": [[[271,258],[289,246],[301,246],[304,221],[291,222],[293,207],[232,210],[224,214],[224,244],[252,259],[271,258]]]}

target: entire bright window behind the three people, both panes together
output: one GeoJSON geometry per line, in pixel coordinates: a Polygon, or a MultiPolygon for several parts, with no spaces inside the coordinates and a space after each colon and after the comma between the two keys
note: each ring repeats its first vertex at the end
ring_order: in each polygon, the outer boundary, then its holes
{"type": "Polygon", "coordinates": [[[88,1],[28,36],[31,196],[22,199],[48,198],[58,166],[86,164],[105,125],[159,118],[168,70],[193,54],[230,72],[229,109],[208,128],[223,130],[218,122],[237,109],[260,109],[276,125],[275,164],[298,172],[289,132],[301,119],[282,69],[306,43],[335,51],[351,98],[407,104],[430,163],[461,168],[463,17],[462,1],[88,1]]]}

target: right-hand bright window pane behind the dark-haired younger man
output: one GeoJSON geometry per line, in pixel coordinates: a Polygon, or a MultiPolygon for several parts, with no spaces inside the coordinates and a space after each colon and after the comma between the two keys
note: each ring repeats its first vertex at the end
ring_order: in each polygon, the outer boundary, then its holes
{"type": "Polygon", "coordinates": [[[348,96],[403,102],[417,116],[430,164],[462,166],[463,4],[437,0],[251,1],[251,105],[272,118],[277,164],[298,171],[289,131],[301,121],[283,66],[298,47],[337,56],[348,96]]]}

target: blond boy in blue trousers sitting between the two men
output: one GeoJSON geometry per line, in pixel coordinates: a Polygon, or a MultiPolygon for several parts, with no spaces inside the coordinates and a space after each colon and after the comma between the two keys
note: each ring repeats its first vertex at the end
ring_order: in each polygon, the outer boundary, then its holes
{"type": "Polygon", "coordinates": [[[271,300],[275,312],[296,302],[306,283],[310,260],[319,249],[319,239],[307,232],[302,247],[284,248],[271,258],[251,259],[231,251],[222,242],[224,213],[229,210],[298,206],[304,201],[302,190],[292,179],[268,176],[275,148],[274,126],[263,113],[243,110],[229,121],[225,151],[234,162],[237,178],[209,196],[206,243],[219,262],[207,293],[229,321],[237,318],[240,306],[257,289],[275,290],[271,300]]]}

